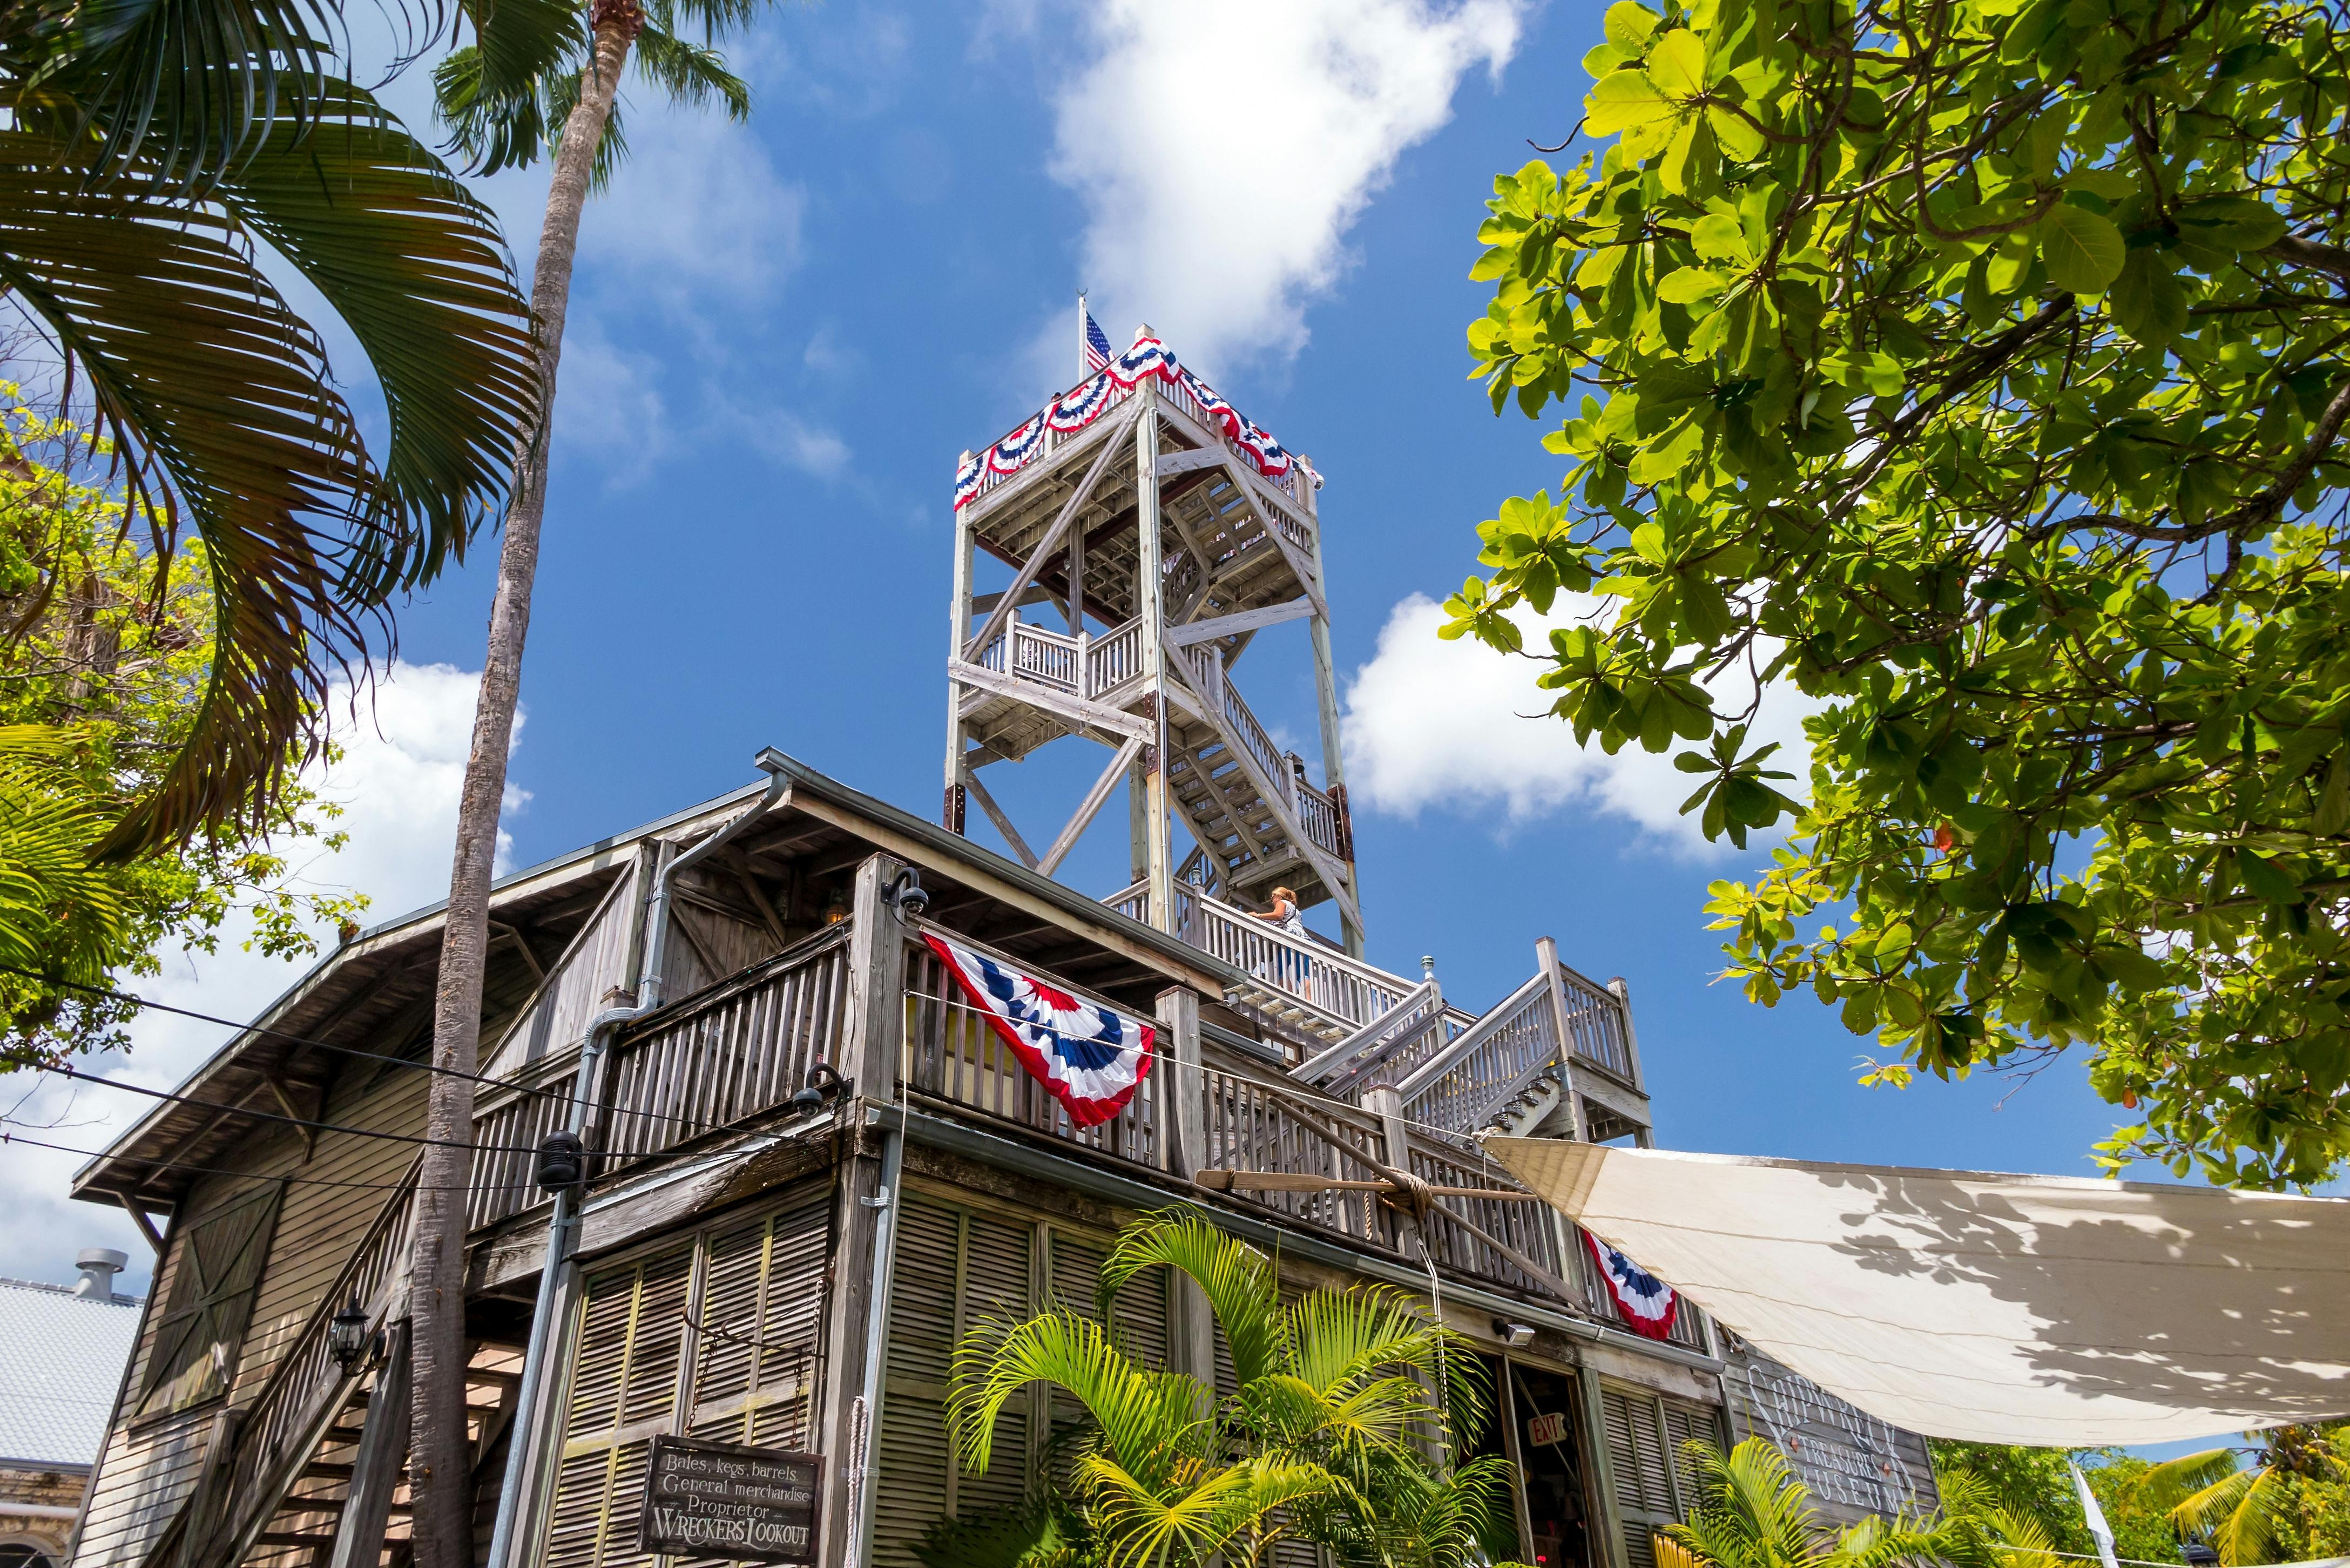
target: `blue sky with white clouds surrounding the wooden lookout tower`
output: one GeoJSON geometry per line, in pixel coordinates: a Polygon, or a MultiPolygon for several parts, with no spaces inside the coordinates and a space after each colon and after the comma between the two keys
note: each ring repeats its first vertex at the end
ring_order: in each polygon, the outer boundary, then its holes
{"type": "MultiPolygon", "coordinates": [[[[1328,480],[1375,961],[1434,954],[1471,1006],[1532,971],[1542,933],[1624,976],[1668,1147],[2089,1173],[2113,1114],[2075,1063],[1864,1091],[1868,1041],[1824,1009],[1713,985],[1704,886],[1760,856],[1699,846],[1659,759],[1582,757],[1516,717],[1525,672],[1438,646],[1415,604],[1457,588],[1504,496],[1558,480],[1539,430],[1464,381],[1485,299],[1466,270],[1492,174],[1582,113],[1598,12],[832,0],[731,49],[747,127],[632,85],[634,160],[580,242],[510,863],[745,783],[761,745],[933,811],[954,461],[1074,378],[1088,284],[1114,341],[1149,320],[1328,480]]],[[[411,73],[392,96],[418,92],[411,73]]],[[[484,186],[524,263],[543,179],[484,186]]],[[[315,875],[378,917],[444,889],[491,552],[404,611],[404,665],[329,780],[357,842],[315,875]]],[[[1236,679],[1311,755],[1302,628],[1262,637],[1236,679]]],[[[1048,832],[1100,762],[1062,743],[992,783],[1048,832]]],[[[1109,891],[1123,860],[1104,813],[1067,877],[1109,891]]],[[[289,980],[226,954],[155,990],[237,1016],[289,980]]],[[[143,1030],[129,1072],[153,1081],[219,1044],[143,1030]]],[[[85,1145],[125,1119],[82,1114],[85,1145]]],[[[19,1166],[38,1175],[19,1248],[122,1244],[120,1218],[49,1199],[73,1164],[19,1166]]]]}

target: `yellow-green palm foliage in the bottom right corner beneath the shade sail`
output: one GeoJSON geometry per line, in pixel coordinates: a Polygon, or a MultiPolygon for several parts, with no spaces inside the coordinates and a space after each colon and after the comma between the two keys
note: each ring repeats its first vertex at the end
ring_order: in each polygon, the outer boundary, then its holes
{"type": "Polygon", "coordinates": [[[2211,1448],[2150,1467],[2136,1500],[2209,1537],[2225,1568],[2280,1563],[2312,1547],[2350,1544],[2341,1490],[2350,1483],[2350,1422],[2254,1432],[2249,1450],[2211,1448]],[[2251,1462],[2240,1462],[2249,1458],[2251,1462]]]}

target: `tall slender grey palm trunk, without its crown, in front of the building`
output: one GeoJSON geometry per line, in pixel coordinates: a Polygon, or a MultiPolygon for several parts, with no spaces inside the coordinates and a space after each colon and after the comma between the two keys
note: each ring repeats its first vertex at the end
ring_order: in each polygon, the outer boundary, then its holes
{"type": "MultiPolygon", "coordinates": [[[[482,1044],[489,879],[498,849],[498,804],[505,797],[505,757],[515,738],[515,696],[522,689],[522,642],[531,628],[538,522],[548,503],[555,367],[564,348],[580,207],[588,202],[588,176],[604,141],[620,68],[642,26],[644,14],[634,0],[597,0],[595,63],[583,73],[578,106],[564,122],[548,219],[538,230],[531,308],[538,315],[540,416],[536,437],[515,461],[519,484],[498,548],[498,597],[489,611],[489,656],[472,710],[472,752],[465,757],[465,790],[456,811],[456,863],[449,870],[439,990],[432,999],[432,1063],[451,1072],[475,1072],[482,1044]]],[[[465,1182],[472,1161],[456,1145],[472,1135],[470,1079],[449,1072],[432,1077],[425,1135],[442,1143],[425,1145],[416,1192],[416,1251],[409,1260],[416,1563],[468,1568],[475,1455],[465,1432],[465,1182]]],[[[522,1450],[519,1427],[512,1450],[522,1450]]]]}

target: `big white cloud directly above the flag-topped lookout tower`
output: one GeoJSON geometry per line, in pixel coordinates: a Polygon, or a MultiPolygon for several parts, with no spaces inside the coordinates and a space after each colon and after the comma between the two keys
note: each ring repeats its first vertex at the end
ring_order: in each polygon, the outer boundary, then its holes
{"type": "MultiPolygon", "coordinates": [[[[1203,369],[1292,355],[1344,237],[1476,66],[1499,73],[1525,0],[1109,0],[1058,94],[1053,176],[1088,209],[1083,277],[1203,369]]],[[[1067,327],[1048,329],[1067,360],[1067,327]]]]}

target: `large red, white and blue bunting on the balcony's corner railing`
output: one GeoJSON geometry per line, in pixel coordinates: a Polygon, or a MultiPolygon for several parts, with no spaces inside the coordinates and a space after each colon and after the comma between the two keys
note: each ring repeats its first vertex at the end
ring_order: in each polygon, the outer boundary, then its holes
{"type": "Polygon", "coordinates": [[[921,940],[980,1009],[996,1039],[1060,1100],[1069,1121],[1109,1121],[1149,1077],[1159,1032],[1140,1018],[1072,997],[942,936],[924,931],[921,940]]]}

